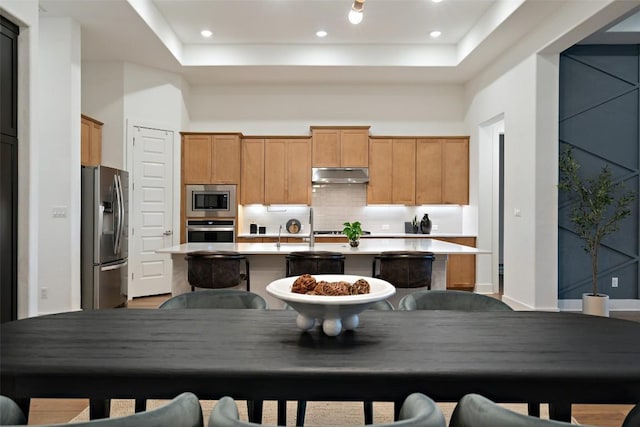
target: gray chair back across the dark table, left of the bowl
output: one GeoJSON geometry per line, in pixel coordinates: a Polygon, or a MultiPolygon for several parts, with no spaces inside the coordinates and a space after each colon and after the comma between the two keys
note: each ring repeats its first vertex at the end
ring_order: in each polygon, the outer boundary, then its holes
{"type": "Polygon", "coordinates": [[[267,302],[260,295],[241,289],[204,289],[176,295],[160,304],[158,308],[254,308],[265,310],[267,302]]]}

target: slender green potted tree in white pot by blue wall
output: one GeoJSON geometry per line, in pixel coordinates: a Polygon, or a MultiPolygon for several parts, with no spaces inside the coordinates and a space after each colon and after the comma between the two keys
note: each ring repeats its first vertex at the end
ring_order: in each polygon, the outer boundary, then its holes
{"type": "Polygon", "coordinates": [[[598,292],[598,249],[602,239],[618,231],[620,221],[631,215],[636,194],[625,192],[623,183],[614,183],[607,165],[595,176],[582,177],[571,148],[561,153],[559,169],[558,187],[570,195],[569,221],[591,257],[591,292],[582,295],[582,312],[609,316],[609,296],[598,292]]]}

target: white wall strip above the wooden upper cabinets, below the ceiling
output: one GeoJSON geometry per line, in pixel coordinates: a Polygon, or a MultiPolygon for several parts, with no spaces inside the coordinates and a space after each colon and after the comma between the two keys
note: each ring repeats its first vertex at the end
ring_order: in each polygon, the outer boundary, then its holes
{"type": "Polygon", "coordinates": [[[466,135],[461,85],[193,86],[189,131],[309,135],[370,125],[372,135],[466,135]]]}

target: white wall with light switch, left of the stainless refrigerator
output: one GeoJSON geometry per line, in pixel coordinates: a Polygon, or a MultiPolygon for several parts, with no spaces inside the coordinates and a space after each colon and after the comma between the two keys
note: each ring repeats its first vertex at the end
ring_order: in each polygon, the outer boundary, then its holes
{"type": "Polygon", "coordinates": [[[80,26],[41,19],[39,40],[38,313],[45,314],[80,308],[80,26]],[[53,217],[54,208],[65,217],[53,217]]]}

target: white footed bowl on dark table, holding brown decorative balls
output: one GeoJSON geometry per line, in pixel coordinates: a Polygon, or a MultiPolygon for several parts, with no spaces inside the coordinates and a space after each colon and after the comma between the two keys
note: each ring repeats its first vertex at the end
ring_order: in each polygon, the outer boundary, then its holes
{"type": "Polygon", "coordinates": [[[377,301],[389,298],[396,293],[396,288],[389,282],[373,277],[346,274],[314,274],[275,280],[267,285],[267,292],[281,299],[298,312],[296,323],[300,329],[309,330],[316,325],[316,322],[320,322],[325,334],[336,336],[343,330],[356,329],[360,323],[360,312],[366,310],[367,307],[377,301]],[[309,282],[309,277],[315,279],[316,283],[334,284],[342,282],[343,286],[354,285],[356,282],[363,284],[362,281],[365,281],[368,284],[368,292],[355,295],[300,293],[298,285],[304,280],[309,282]],[[292,291],[294,283],[297,288],[296,292],[292,291]]]}

